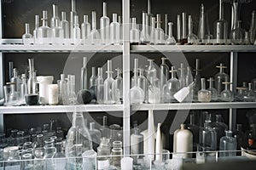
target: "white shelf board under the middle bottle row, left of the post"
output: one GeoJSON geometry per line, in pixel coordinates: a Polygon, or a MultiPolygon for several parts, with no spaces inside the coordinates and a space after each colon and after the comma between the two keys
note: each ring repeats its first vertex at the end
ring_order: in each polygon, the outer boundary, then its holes
{"type": "MultiPolygon", "coordinates": [[[[77,111],[123,111],[123,105],[76,105],[77,111]]],[[[74,105],[1,106],[0,114],[65,113],[73,112],[74,105]]]]}

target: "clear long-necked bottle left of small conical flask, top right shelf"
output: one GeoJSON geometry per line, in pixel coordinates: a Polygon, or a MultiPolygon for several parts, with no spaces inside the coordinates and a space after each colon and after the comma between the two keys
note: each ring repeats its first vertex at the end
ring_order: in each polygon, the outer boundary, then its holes
{"type": "Polygon", "coordinates": [[[156,28],[154,29],[154,44],[163,45],[165,44],[165,32],[160,27],[161,26],[161,16],[156,14],[156,28]]]}

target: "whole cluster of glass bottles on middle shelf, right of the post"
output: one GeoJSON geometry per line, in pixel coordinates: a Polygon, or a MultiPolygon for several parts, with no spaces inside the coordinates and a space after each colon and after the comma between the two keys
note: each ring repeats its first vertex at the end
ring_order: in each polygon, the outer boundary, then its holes
{"type": "MultiPolygon", "coordinates": [[[[220,64],[220,69],[215,79],[208,79],[209,88],[206,88],[206,79],[200,75],[200,60],[196,59],[195,77],[192,77],[190,67],[185,68],[181,63],[179,68],[179,77],[176,78],[175,67],[170,70],[166,65],[166,58],[161,58],[160,73],[157,77],[157,69],[154,66],[154,60],[148,59],[146,74],[143,75],[143,69],[138,68],[138,59],[134,59],[134,77],[131,78],[131,104],[142,103],[172,103],[172,102],[210,102],[210,101],[233,101],[234,93],[230,90],[229,75],[224,73],[224,64],[220,64]],[[185,70],[187,70],[185,72],[185,70]],[[169,72],[172,77],[169,78],[169,72]],[[213,87],[215,85],[215,88],[213,87]]],[[[256,99],[255,79],[252,83],[246,82],[244,87],[237,88],[236,101],[253,102],[256,99]]]]}

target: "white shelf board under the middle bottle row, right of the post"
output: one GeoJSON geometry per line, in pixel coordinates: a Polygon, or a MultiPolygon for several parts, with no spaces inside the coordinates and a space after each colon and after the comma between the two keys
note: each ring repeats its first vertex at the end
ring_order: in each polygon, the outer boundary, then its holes
{"type": "Polygon", "coordinates": [[[172,103],[131,105],[132,111],[243,109],[256,108],[256,102],[172,103]]]}

